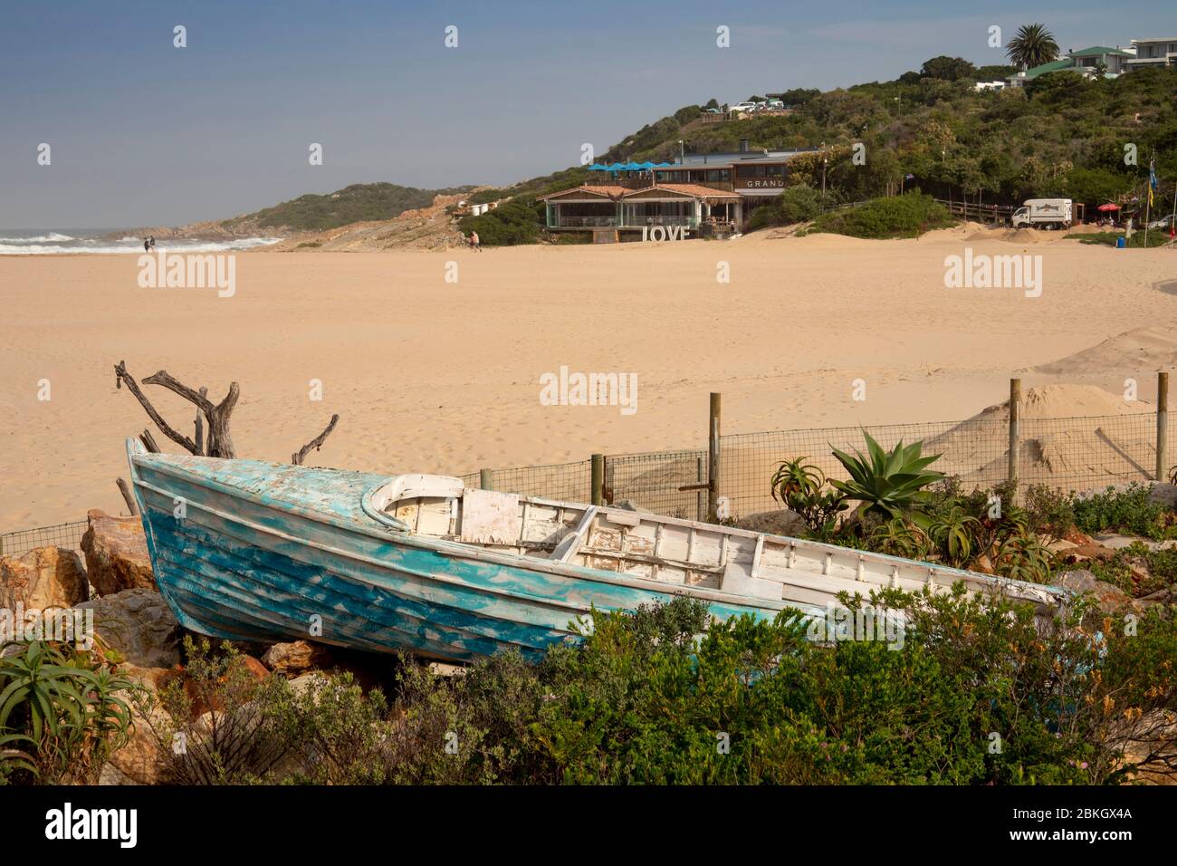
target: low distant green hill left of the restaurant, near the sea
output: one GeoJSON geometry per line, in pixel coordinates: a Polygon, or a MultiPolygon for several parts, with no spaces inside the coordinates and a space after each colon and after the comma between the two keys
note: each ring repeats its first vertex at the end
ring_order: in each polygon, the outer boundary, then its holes
{"type": "Polygon", "coordinates": [[[231,232],[285,230],[291,232],[326,231],[352,223],[392,219],[405,211],[428,207],[437,196],[454,196],[472,186],[445,190],[421,190],[397,184],[352,184],[325,196],[299,196],[273,207],[224,220],[231,232]]]}

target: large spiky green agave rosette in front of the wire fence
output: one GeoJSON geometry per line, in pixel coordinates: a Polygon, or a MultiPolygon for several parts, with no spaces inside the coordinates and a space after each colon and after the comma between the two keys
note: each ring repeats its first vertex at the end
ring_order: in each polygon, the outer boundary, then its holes
{"type": "Polygon", "coordinates": [[[831,480],[830,483],[846,498],[859,501],[859,511],[864,516],[918,520],[918,508],[931,500],[931,494],[925,488],[944,478],[943,472],[925,469],[939,460],[940,455],[924,457],[920,455],[923,442],[912,442],[905,447],[903,439],[891,451],[884,451],[865,430],[863,436],[866,437],[865,455],[857,448],[855,457],[837,448],[832,449],[833,456],[850,472],[850,481],[831,480]]]}

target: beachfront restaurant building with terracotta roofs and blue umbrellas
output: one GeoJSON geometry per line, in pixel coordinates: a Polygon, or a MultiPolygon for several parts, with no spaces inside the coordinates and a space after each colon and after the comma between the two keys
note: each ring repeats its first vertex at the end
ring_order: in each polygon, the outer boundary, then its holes
{"type": "Polygon", "coordinates": [[[785,189],[789,160],[803,151],[685,153],[676,163],[591,166],[587,183],[540,196],[550,231],[592,230],[596,240],[678,226],[699,236],[743,231],[752,211],[785,189]]]}

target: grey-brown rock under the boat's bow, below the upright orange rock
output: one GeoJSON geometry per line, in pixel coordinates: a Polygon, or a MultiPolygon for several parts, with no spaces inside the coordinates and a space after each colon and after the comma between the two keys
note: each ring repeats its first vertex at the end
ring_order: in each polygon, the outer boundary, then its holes
{"type": "Polygon", "coordinates": [[[129,665],[169,668],[180,662],[180,626],[164,597],[142,587],[78,604],[94,609],[94,633],[129,665]]]}

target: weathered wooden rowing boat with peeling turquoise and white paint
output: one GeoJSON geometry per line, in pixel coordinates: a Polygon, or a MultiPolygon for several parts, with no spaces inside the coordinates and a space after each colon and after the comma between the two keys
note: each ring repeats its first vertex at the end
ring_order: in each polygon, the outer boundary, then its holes
{"type": "Polygon", "coordinates": [[[311,639],[470,661],[539,657],[592,612],[690,596],[712,616],[826,614],[842,590],[1063,590],[882,554],[611,508],[245,460],[127,441],[160,593],[214,637],[311,639]]]}

